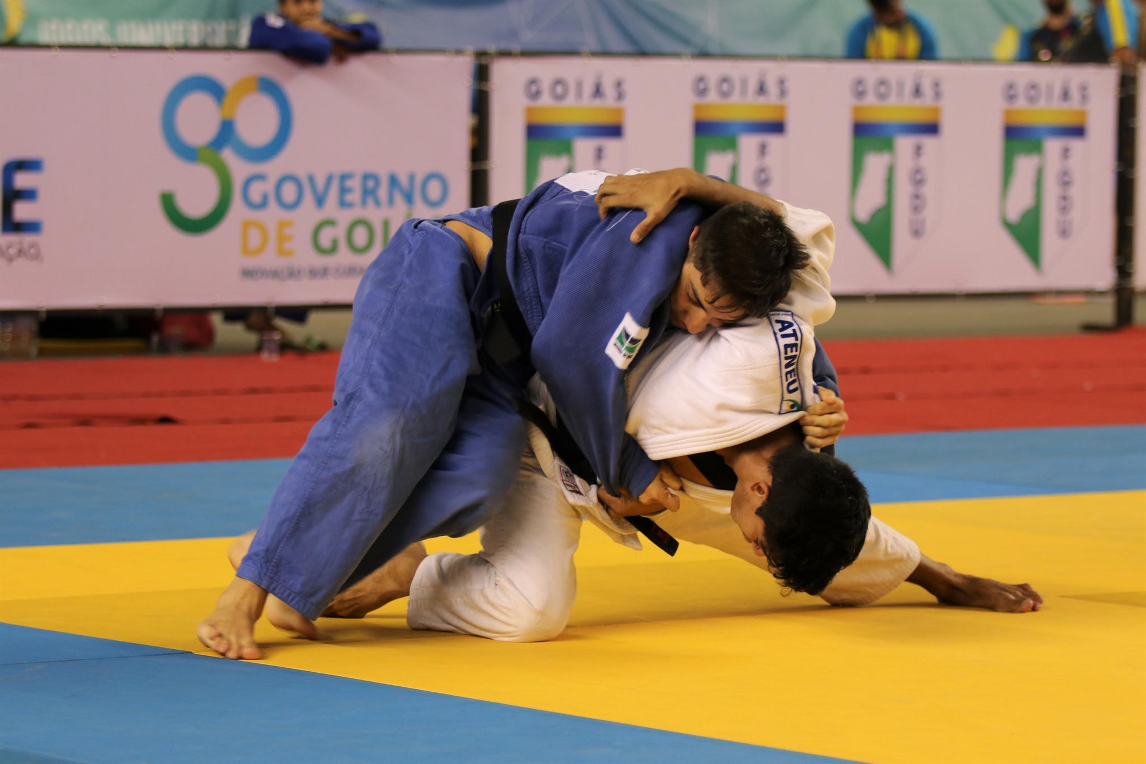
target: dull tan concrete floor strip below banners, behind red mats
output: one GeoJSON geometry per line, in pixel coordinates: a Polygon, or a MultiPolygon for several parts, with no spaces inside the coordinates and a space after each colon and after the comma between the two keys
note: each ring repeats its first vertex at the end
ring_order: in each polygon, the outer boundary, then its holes
{"type": "MultiPolygon", "coordinates": [[[[1135,306],[1136,322],[1146,325],[1146,294],[1135,306]]],[[[998,334],[1069,334],[1083,323],[1109,323],[1109,295],[1072,297],[1000,295],[965,297],[841,297],[835,317],[817,329],[825,340],[859,337],[928,337],[998,334]]],[[[215,323],[214,352],[252,352],[256,337],[238,323],[215,323]]],[[[350,309],[314,310],[305,325],[283,321],[289,334],[309,335],[340,348],[350,326],[350,309]]]]}

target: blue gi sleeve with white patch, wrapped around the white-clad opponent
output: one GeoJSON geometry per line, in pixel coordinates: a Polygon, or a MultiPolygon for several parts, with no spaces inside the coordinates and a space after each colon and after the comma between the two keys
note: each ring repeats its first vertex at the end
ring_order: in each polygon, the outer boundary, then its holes
{"type": "Polygon", "coordinates": [[[676,225],[662,223],[639,244],[629,234],[642,216],[628,212],[611,213],[566,254],[531,358],[605,489],[615,494],[626,488],[637,497],[657,476],[657,465],[625,432],[625,373],[664,329],[666,298],[700,210],[678,206],[666,220],[678,216],[676,225]]]}

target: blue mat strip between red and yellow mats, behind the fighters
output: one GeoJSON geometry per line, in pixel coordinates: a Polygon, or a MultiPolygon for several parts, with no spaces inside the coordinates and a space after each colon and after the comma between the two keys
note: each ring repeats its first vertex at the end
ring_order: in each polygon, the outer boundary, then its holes
{"type": "MultiPolygon", "coordinates": [[[[845,437],[873,502],[1146,489],[1146,427],[845,437]]],[[[0,546],[235,536],[286,459],[0,470],[0,546]]]]}

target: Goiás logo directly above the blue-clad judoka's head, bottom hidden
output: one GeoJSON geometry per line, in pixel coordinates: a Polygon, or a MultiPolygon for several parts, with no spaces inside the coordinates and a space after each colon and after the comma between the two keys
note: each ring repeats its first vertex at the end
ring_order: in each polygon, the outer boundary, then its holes
{"type": "Polygon", "coordinates": [[[784,196],[787,78],[768,71],[719,72],[692,80],[692,167],[784,196]]]}

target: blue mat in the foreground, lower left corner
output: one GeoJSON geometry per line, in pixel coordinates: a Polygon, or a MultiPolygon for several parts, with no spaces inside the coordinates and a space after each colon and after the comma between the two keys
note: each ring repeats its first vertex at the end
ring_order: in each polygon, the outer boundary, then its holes
{"type": "Polygon", "coordinates": [[[190,653],[111,657],[108,640],[0,625],[0,652],[30,639],[66,657],[0,665],[0,762],[841,761],[190,653]]]}

